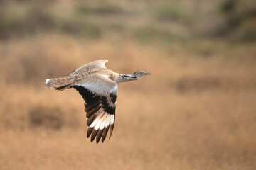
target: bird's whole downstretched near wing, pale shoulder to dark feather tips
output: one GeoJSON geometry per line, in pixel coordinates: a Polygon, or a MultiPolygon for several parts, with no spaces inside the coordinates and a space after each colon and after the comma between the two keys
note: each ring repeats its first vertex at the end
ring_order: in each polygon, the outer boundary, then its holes
{"type": "Polygon", "coordinates": [[[88,77],[83,84],[73,86],[85,101],[87,117],[87,137],[91,142],[104,142],[110,128],[110,137],[114,128],[114,117],[117,99],[117,84],[105,76],[88,77]]]}

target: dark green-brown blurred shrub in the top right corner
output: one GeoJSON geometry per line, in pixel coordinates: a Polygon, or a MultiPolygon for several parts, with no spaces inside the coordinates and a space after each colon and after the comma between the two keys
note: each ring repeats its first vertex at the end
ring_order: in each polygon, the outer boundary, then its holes
{"type": "Polygon", "coordinates": [[[217,35],[236,41],[256,40],[256,6],[251,1],[225,0],[220,6],[220,14],[225,22],[218,28],[217,35]]]}

